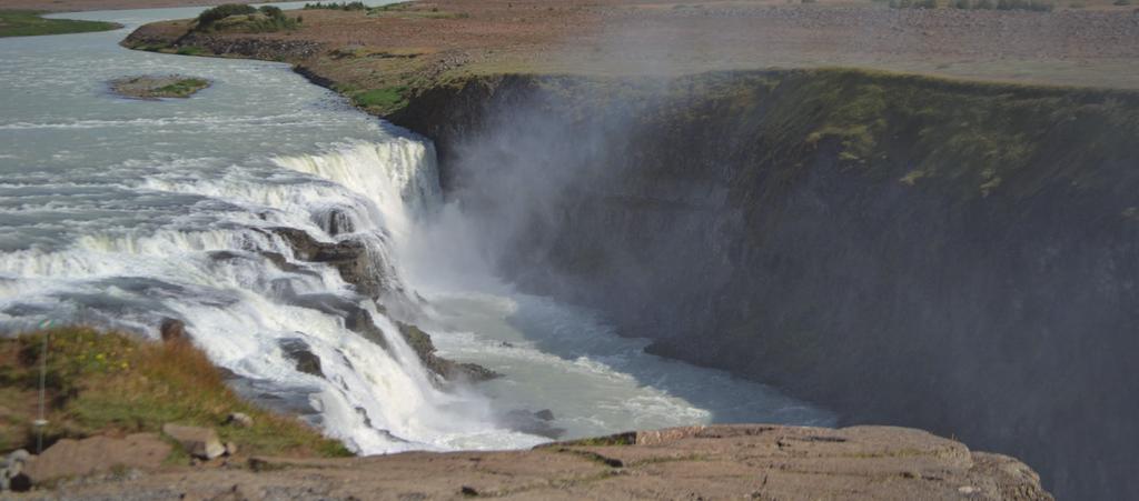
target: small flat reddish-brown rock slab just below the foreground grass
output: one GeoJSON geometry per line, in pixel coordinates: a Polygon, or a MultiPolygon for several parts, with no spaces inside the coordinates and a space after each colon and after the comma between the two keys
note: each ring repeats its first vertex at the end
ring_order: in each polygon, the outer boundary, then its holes
{"type": "Polygon", "coordinates": [[[42,454],[28,459],[24,474],[33,484],[56,478],[83,477],[117,468],[153,469],[170,454],[171,445],[155,434],[125,438],[95,436],[56,442],[42,454]]]}

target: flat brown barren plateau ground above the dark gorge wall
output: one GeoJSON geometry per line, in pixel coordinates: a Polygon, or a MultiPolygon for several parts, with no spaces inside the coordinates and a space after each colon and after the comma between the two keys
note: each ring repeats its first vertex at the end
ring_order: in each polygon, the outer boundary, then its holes
{"type": "MultiPolygon", "coordinates": [[[[849,66],[950,77],[1139,89],[1139,10],[890,9],[837,2],[420,1],[368,16],[304,10],[292,55],[352,89],[464,72],[584,74],[849,66]],[[337,50],[339,49],[339,50],[337,50]]],[[[186,24],[145,33],[174,36],[186,24]]]]}

